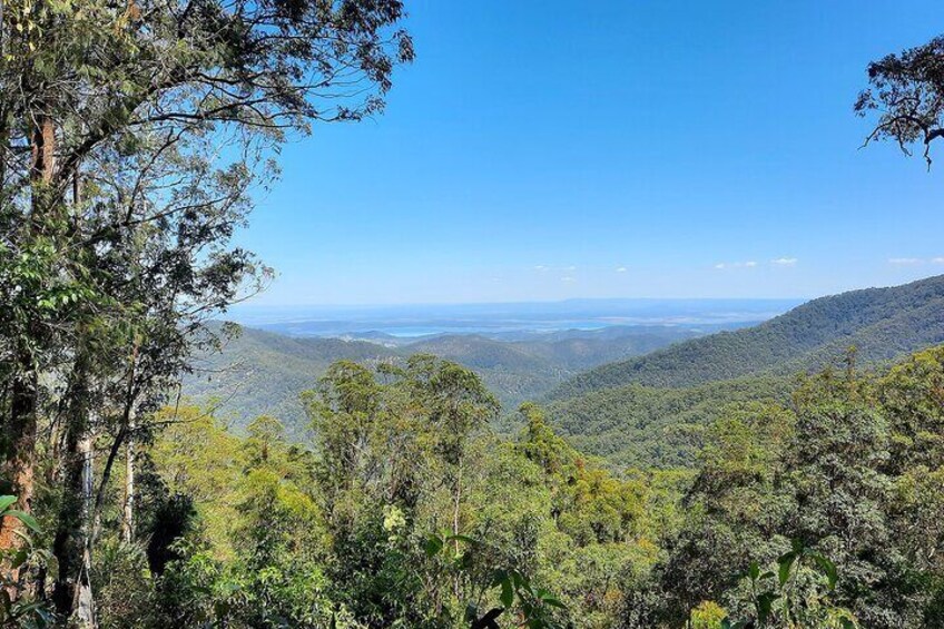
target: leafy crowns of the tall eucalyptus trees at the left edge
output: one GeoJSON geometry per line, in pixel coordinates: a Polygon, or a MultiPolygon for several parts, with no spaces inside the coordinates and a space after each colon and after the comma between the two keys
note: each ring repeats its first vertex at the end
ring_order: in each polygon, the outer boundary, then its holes
{"type": "Polygon", "coordinates": [[[278,145],[380,112],[413,49],[399,0],[3,4],[2,478],[29,511],[46,410],[67,454],[110,438],[99,504],[122,442],[147,431],[135,415],[260,277],[230,238],[278,145]]]}

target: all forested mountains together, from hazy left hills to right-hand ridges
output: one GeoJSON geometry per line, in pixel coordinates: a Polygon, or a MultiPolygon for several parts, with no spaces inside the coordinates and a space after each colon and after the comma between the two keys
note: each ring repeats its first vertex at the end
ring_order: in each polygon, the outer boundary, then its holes
{"type": "Polygon", "coordinates": [[[869,365],[944,343],[944,276],[822,297],[750,327],[484,327],[421,338],[378,330],[293,337],[247,327],[223,353],[201,360],[185,393],[204,404],[215,400],[237,427],[272,414],[301,436],[298,394],[332,362],[430,353],[481,375],[507,412],[499,430],[518,430],[511,412],[520,402],[542,400],[574,445],[614,466],[689,465],[704,427],[731,405],[785,402],[797,373],[836,364],[849,346],[859,365],[869,365]]]}

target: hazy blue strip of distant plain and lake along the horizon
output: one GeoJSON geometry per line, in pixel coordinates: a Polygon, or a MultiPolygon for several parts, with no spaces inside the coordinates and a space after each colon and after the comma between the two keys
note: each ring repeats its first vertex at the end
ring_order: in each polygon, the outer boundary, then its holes
{"type": "Polygon", "coordinates": [[[571,299],[548,303],[397,306],[254,306],[228,318],[293,336],[413,338],[434,334],[524,334],[612,326],[739,327],[803,299],[571,299]]]}

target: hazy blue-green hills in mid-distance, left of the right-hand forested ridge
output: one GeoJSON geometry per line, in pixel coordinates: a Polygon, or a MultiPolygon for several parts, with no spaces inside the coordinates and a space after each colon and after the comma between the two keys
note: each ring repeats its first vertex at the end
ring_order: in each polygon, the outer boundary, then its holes
{"type": "Polygon", "coordinates": [[[623,326],[562,331],[496,341],[481,335],[436,335],[395,345],[361,340],[291,337],[244,327],[222,353],[201,356],[185,379],[184,393],[217,409],[238,427],[254,417],[279,417],[293,434],[306,424],[298,394],[311,389],[334,361],[402,362],[427,353],[478,373],[508,411],[537,399],[586,368],[636,356],[710,327],[623,326]],[[527,338],[527,340],[521,340],[527,338]]]}

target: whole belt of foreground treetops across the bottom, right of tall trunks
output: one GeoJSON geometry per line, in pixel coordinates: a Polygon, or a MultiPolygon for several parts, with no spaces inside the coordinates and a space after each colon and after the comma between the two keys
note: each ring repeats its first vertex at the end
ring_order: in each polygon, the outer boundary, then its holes
{"type": "Polygon", "coordinates": [[[238,436],[167,409],[138,454],[150,541],[102,542],[102,625],[940,627],[944,347],[716,411],[783,384],[611,390],[656,411],[639,434],[679,404],[707,422],[690,468],[622,473],[533,404],[498,438],[481,381],[429,355],[331,366],[311,450],[274,417],[238,436]]]}

